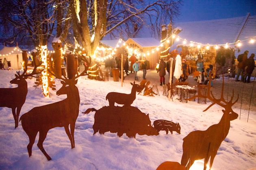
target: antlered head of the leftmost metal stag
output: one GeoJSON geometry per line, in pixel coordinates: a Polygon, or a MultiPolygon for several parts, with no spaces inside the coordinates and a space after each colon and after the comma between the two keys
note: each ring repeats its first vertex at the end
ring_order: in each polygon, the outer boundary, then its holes
{"type": "MultiPolygon", "coordinates": [[[[41,65],[41,64],[40,64],[40,65],[41,65]]],[[[38,66],[40,66],[40,65],[38,65],[38,66]]],[[[43,68],[43,69],[41,69],[39,72],[37,72],[37,67],[38,67],[38,66],[35,66],[34,69],[33,69],[33,71],[32,71],[30,74],[26,74],[26,72],[27,72],[27,67],[24,68],[24,72],[23,72],[22,74],[20,74],[20,71],[19,71],[19,72],[16,72],[17,74],[15,74],[15,79],[11,80],[10,83],[11,83],[11,84],[17,84],[17,85],[26,84],[26,79],[27,79],[28,77],[35,77],[35,76],[33,76],[33,75],[39,74],[39,73],[41,73],[41,72],[44,70],[44,68],[43,68]]]]}

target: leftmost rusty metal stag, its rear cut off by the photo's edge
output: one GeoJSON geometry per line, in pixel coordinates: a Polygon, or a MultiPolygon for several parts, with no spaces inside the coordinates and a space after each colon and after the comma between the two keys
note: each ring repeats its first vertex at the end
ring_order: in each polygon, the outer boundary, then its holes
{"type": "Polygon", "coordinates": [[[34,70],[30,74],[26,74],[27,67],[24,68],[24,72],[20,74],[20,71],[15,74],[15,79],[11,80],[11,84],[17,84],[16,88],[0,88],[0,107],[8,107],[12,109],[13,118],[15,121],[15,128],[19,125],[19,115],[23,104],[26,101],[28,94],[28,83],[26,79],[28,77],[34,77],[33,75],[39,74],[43,71],[36,72],[38,66],[35,66],[34,70]],[[16,111],[17,108],[17,111],[16,111]]]}

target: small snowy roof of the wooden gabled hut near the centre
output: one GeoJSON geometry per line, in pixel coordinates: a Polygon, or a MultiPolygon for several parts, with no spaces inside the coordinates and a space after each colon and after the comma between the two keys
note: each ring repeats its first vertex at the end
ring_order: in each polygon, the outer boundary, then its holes
{"type": "Polygon", "coordinates": [[[129,38],[129,39],[132,39],[133,41],[135,41],[138,45],[140,45],[143,48],[157,47],[160,45],[160,41],[155,38],[129,38]]]}

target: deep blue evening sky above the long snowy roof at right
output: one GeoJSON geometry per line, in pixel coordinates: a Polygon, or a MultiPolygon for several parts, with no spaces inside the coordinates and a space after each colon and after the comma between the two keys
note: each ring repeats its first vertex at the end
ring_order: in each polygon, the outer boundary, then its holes
{"type": "Polygon", "coordinates": [[[256,0],[183,0],[175,22],[202,21],[256,15],[256,0]]]}

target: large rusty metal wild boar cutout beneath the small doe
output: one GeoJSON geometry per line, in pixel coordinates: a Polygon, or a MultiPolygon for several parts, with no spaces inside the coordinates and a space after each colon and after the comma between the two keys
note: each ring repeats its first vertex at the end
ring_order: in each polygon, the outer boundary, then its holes
{"type": "Polygon", "coordinates": [[[129,138],[139,135],[158,135],[154,127],[151,126],[149,115],[145,115],[136,107],[104,106],[99,110],[89,108],[84,113],[95,111],[93,130],[94,133],[105,132],[117,133],[121,137],[124,133],[129,138]]]}

